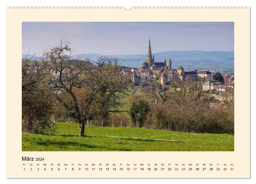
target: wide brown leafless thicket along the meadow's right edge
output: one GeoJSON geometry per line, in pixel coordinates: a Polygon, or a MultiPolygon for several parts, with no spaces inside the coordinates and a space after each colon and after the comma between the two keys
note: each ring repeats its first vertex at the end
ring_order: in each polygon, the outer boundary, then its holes
{"type": "Polygon", "coordinates": [[[231,110],[220,103],[210,106],[211,101],[203,98],[198,104],[193,101],[186,103],[172,96],[165,104],[153,106],[147,128],[234,135],[231,110]]]}

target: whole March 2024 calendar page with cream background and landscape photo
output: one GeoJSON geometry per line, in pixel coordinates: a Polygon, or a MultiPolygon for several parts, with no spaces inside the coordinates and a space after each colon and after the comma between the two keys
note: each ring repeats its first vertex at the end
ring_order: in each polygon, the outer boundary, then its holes
{"type": "Polygon", "coordinates": [[[7,178],[250,178],[249,6],[7,6],[6,88],[7,178]]]}

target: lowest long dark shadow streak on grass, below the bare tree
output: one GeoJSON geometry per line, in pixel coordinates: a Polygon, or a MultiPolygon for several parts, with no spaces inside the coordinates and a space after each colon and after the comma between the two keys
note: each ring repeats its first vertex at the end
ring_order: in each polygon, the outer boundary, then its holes
{"type": "MultiPolygon", "coordinates": [[[[80,147],[80,148],[107,149],[107,150],[111,150],[111,151],[132,151],[129,149],[110,148],[110,147],[106,147],[106,146],[94,146],[94,145],[89,145],[89,144],[84,144],[84,143],[76,143],[76,142],[71,142],[71,141],[63,142],[63,141],[47,140],[47,141],[37,142],[36,144],[41,145],[41,146],[54,146],[55,145],[56,147],[61,147],[62,149],[69,149],[69,147],[66,147],[66,146],[72,145],[72,146],[76,146],[76,147],[80,147]]],[[[86,150],[78,149],[78,150],[74,150],[74,151],[86,151],[86,150]]]]}

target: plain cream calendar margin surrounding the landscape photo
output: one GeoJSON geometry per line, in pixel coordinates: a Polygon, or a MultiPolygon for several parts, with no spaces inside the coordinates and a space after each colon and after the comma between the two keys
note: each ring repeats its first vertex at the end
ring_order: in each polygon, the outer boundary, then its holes
{"type": "Polygon", "coordinates": [[[250,7],[160,9],[13,9],[6,7],[6,177],[250,177],[250,7]],[[22,152],[21,150],[21,54],[22,22],[234,22],[235,53],[235,151],[232,152],[22,152]],[[241,64],[244,68],[241,68],[241,64]],[[108,160],[103,159],[109,158],[108,160]],[[22,156],[44,157],[47,163],[233,163],[233,172],[118,172],[86,174],[22,172],[22,156]],[[83,160],[78,159],[83,158],[83,160]],[[96,158],[94,161],[93,158],[96,158]],[[126,158],[126,159],[123,159],[126,158]]]}

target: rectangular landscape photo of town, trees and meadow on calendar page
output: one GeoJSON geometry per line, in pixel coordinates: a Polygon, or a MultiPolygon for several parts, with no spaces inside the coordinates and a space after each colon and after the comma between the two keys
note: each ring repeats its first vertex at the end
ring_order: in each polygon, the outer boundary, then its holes
{"type": "Polygon", "coordinates": [[[22,22],[22,151],[234,151],[234,22],[22,22]]]}

